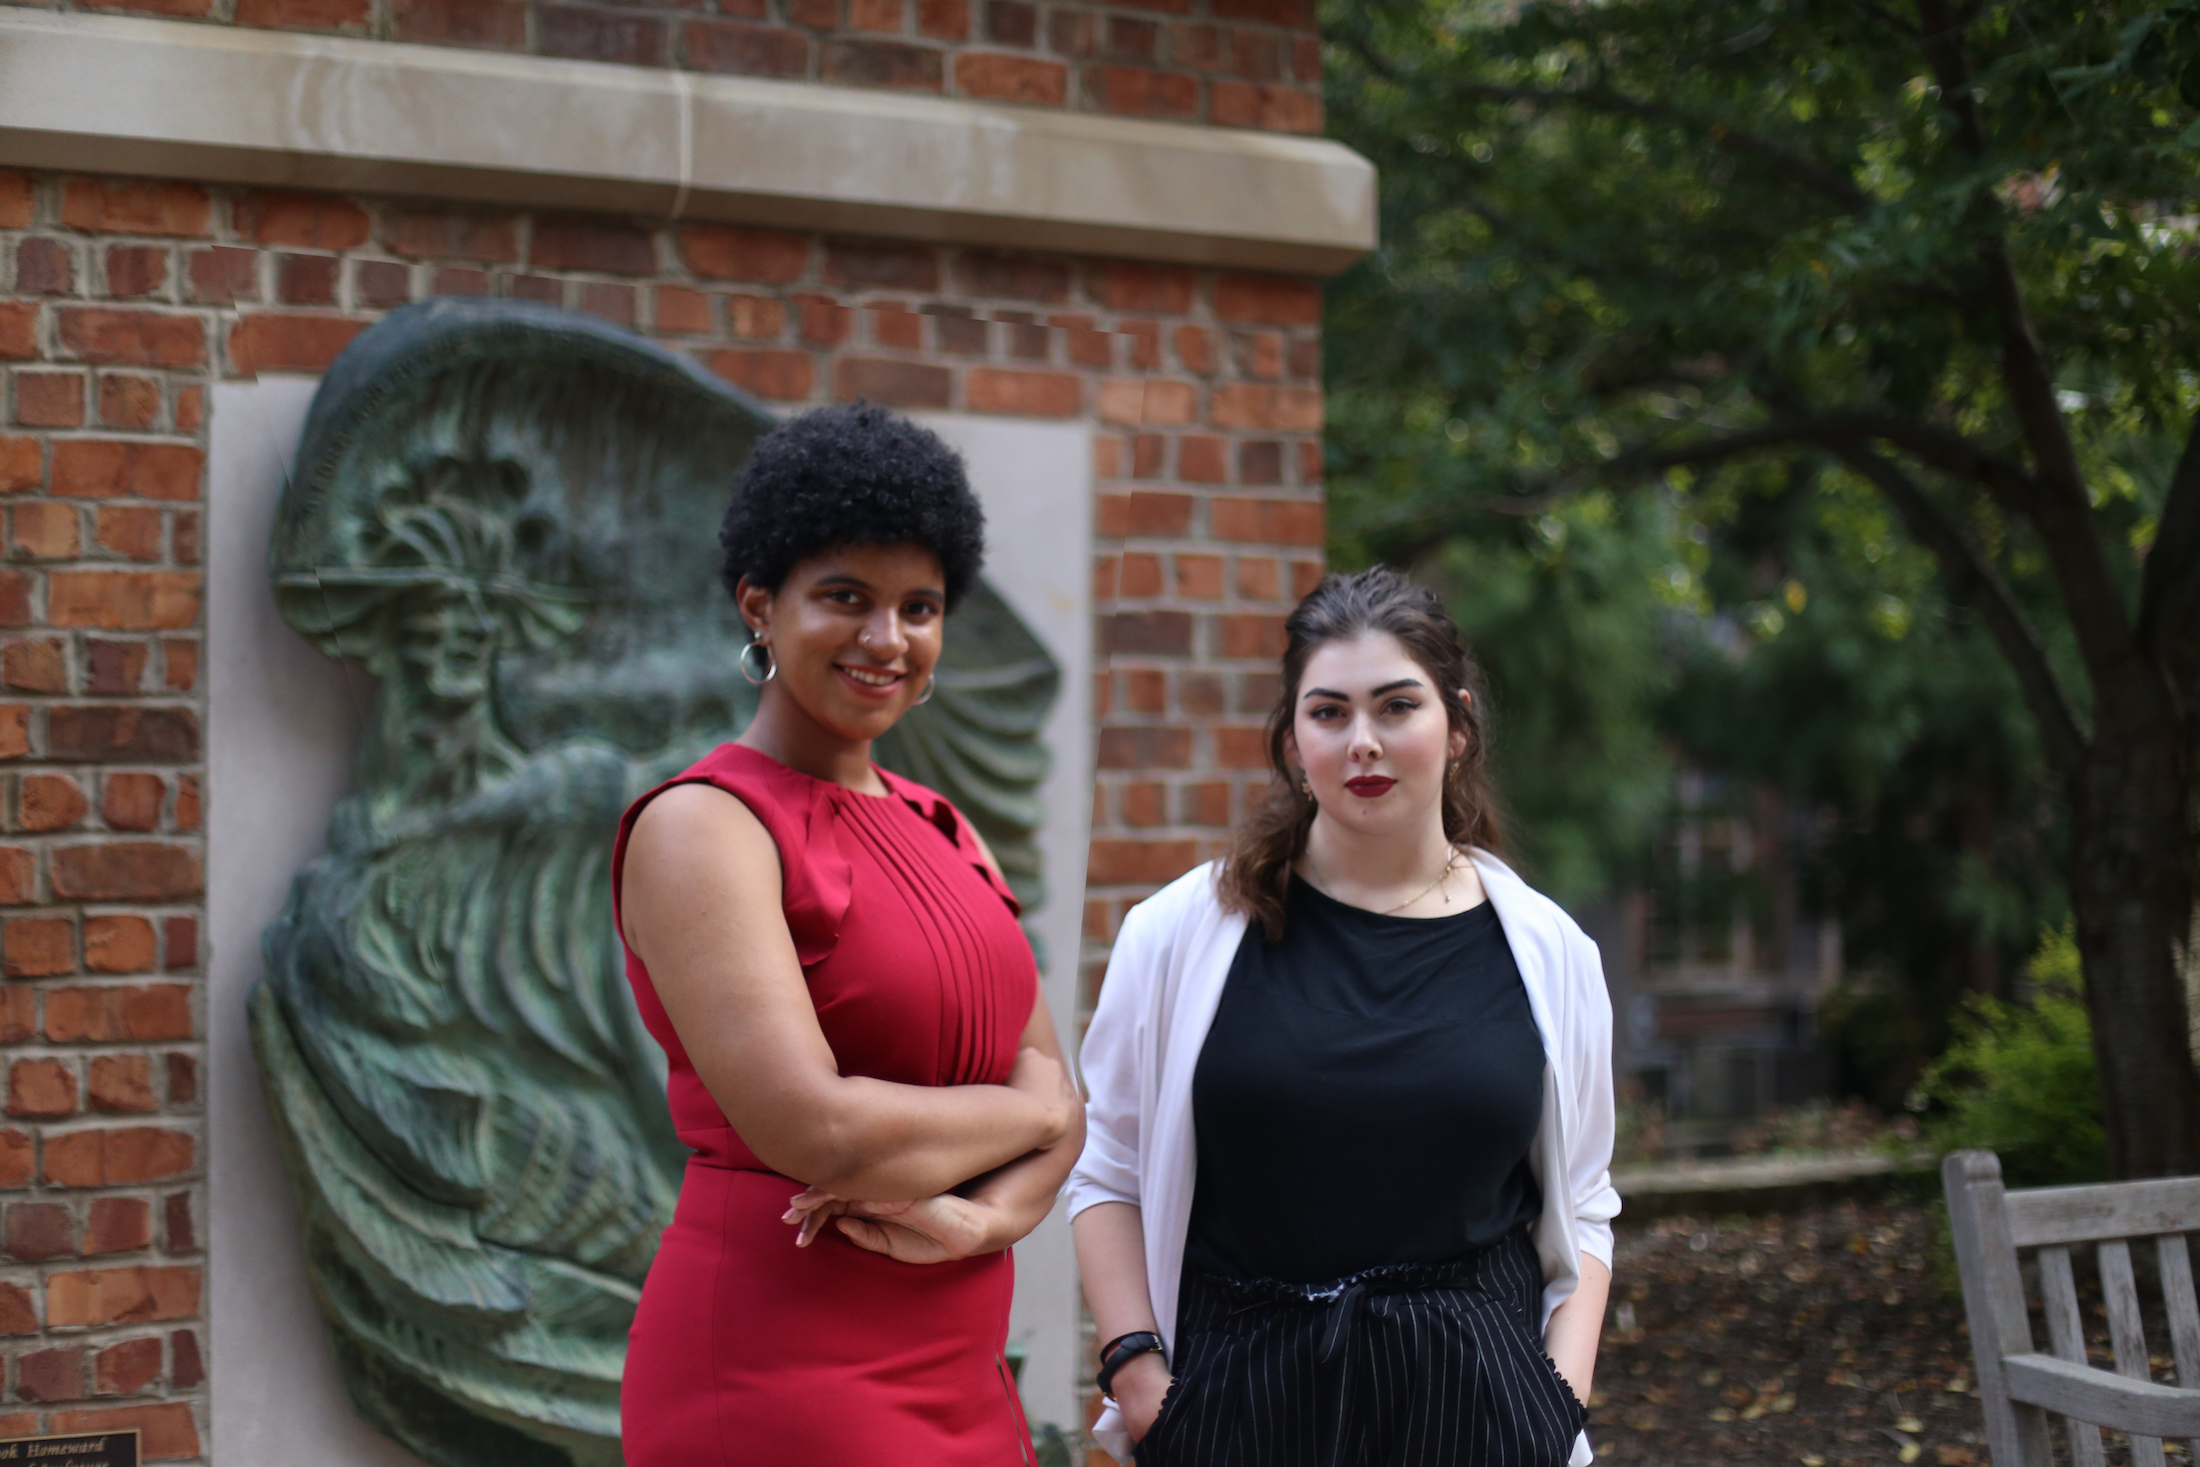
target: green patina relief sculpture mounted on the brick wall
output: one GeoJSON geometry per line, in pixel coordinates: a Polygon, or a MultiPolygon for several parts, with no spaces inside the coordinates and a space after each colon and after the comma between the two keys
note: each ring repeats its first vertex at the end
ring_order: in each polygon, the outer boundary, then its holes
{"type": "MultiPolygon", "coordinates": [[[[356,1410],[436,1467],[618,1463],[618,1375],[684,1148],[612,926],[627,803],[755,708],[717,519],[770,413],[513,301],[387,317],[315,398],[284,618],[381,680],[251,1032],[356,1410]]],[[[1058,671],[988,587],[878,757],[1036,906],[1058,671]]]]}

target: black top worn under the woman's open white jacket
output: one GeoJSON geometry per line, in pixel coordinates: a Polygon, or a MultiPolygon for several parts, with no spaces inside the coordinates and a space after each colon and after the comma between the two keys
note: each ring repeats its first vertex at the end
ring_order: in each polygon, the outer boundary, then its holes
{"type": "Polygon", "coordinates": [[[1188,1267],[1318,1284],[1439,1262],[1542,1212],[1542,1036],[1489,902],[1384,917],[1291,878],[1192,1071],[1188,1267]]]}

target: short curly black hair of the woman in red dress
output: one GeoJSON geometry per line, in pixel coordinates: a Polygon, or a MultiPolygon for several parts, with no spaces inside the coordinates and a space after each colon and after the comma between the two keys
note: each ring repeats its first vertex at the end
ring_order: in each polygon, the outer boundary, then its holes
{"type": "Polygon", "coordinates": [[[838,545],[917,543],[939,556],[953,611],[986,559],[986,510],[937,433],[856,400],[757,440],[717,543],[728,596],[744,578],[777,592],[799,563],[838,545]]]}

